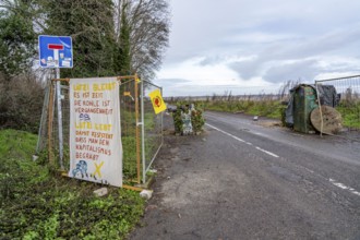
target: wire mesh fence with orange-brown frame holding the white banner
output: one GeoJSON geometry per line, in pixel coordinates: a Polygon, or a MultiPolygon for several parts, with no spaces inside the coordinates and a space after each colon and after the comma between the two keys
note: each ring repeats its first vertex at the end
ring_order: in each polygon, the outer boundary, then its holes
{"type": "MultiPolygon", "coordinates": [[[[135,76],[119,80],[123,179],[125,182],[145,182],[146,172],[163,145],[163,113],[155,115],[148,97],[148,93],[159,87],[140,82],[135,76]]],[[[49,82],[46,88],[37,153],[46,149],[49,161],[67,171],[70,167],[69,80],[61,81],[61,116],[58,113],[57,81],[49,82]]]]}

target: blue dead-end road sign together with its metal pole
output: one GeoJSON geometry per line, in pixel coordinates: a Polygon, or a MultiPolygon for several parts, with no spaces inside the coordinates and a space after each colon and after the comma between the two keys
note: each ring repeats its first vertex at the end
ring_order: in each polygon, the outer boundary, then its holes
{"type": "MultiPolygon", "coordinates": [[[[39,64],[41,68],[56,69],[56,79],[60,79],[60,68],[72,68],[72,39],[68,36],[38,36],[39,64]]],[[[61,111],[61,85],[57,81],[57,105],[59,125],[59,156],[60,166],[63,167],[63,137],[61,111]]]]}

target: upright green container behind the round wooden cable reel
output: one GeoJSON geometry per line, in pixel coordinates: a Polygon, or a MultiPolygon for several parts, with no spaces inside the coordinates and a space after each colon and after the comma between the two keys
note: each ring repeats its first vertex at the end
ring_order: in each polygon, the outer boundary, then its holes
{"type": "Polygon", "coordinates": [[[309,85],[299,85],[293,93],[293,130],[315,133],[310,121],[310,113],[317,107],[316,91],[309,85]]]}

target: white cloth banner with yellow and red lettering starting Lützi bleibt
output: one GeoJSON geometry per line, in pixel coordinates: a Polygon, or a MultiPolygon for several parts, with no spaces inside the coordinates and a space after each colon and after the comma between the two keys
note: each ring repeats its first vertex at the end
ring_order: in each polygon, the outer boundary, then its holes
{"type": "MultiPolygon", "coordinates": [[[[68,175],[85,181],[122,187],[118,77],[71,79],[69,85],[68,175]]],[[[124,92],[125,96],[128,94],[131,97],[130,92],[124,92]]]]}

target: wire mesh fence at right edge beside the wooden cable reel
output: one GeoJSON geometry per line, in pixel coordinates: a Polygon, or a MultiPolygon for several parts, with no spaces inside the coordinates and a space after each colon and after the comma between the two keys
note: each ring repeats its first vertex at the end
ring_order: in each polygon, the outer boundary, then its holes
{"type": "Polygon", "coordinates": [[[360,130],[360,75],[317,80],[316,85],[333,85],[339,100],[336,110],[340,112],[346,130],[360,130]]]}

